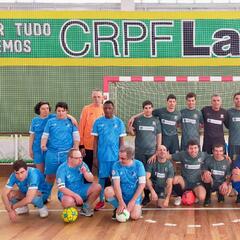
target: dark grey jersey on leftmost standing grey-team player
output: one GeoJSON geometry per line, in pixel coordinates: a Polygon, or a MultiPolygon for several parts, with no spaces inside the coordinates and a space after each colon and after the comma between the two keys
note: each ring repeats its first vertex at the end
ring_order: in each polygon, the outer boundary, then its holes
{"type": "Polygon", "coordinates": [[[156,137],[161,133],[161,125],[156,117],[140,116],[133,122],[135,128],[135,152],[152,155],[156,151],[156,137]]]}

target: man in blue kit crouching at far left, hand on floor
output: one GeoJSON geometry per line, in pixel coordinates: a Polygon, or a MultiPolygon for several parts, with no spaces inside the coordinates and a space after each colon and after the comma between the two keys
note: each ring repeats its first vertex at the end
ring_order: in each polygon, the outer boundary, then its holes
{"type": "Polygon", "coordinates": [[[2,200],[11,221],[17,220],[17,214],[28,213],[28,204],[38,208],[40,217],[48,216],[44,202],[49,196],[49,186],[44,175],[37,168],[27,167],[23,160],[13,163],[14,172],[2,192],[2,200]],[[15,189],[15,185],[17,189],[15,189]]]}

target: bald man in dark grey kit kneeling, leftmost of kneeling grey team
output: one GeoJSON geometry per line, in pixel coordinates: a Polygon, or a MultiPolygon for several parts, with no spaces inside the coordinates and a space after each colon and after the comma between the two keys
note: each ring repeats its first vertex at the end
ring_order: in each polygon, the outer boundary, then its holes
{"type": "Polygon", "coordinates": [[[151,200],[156,201],[158,207],[168,207],[172,193],[174,168],[167,157],[167,148],[160,145],[157,148],[156,161],[146,167],[147,187],[151,192],[151,200]]]}

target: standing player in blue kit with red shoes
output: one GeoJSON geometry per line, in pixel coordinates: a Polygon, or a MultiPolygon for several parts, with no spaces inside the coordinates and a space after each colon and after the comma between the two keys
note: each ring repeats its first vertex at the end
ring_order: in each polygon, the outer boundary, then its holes
{"type": "Polygon", "coordinates": [[[95,210],[104,207],[104,188],[111,176],[112,165],[118,160],[119,148],[123,145],[123,137],[126,136],[123,121],[114,116],[114,104],[106,101],[103,104],[104,116],[98,118],[93,125],[94,136],[93,160],[98,166],[99,183],[102,187],[100,202],[95,210]]]}

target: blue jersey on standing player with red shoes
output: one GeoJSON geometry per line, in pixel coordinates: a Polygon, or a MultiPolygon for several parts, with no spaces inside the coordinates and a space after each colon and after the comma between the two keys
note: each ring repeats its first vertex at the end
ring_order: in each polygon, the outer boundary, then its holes
{"type": "Polygon", "coordinates": [[[98,161],[117,161],[119,138],[126,136],[123,121],[115,116],[100,117],[94,122],[92,135],[98,137],[98,161]]]}

